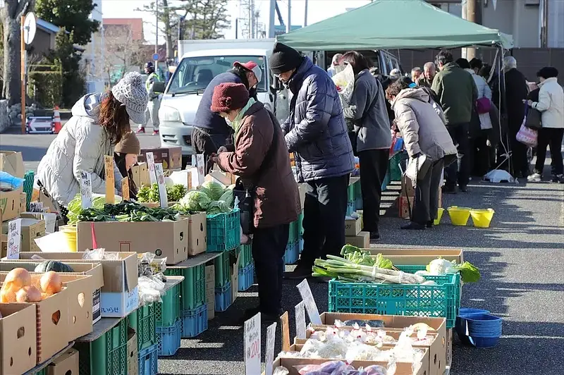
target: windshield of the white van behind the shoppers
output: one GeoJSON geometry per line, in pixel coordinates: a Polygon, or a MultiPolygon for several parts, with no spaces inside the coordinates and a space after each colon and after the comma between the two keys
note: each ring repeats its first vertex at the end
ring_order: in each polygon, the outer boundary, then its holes
{"type": "Polygon", "coordinates": [[[168,94],[203,92],[216,75],[231,70],[235,61],[257,63],[262,69],[262,78],[257,86],[257,92],[266,92],[263,56],[198,56],[182,59],[166,92],[168,94]]]}

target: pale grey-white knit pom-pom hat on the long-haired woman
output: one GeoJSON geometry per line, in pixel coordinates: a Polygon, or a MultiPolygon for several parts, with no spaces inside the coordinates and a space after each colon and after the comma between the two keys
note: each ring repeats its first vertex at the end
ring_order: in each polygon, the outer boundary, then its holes
{"type": "Polygon", "coordinates": [[[125,110],[128,111],[133,123],[145,125],[145,110],[149,102],[149,94],[147,94],[142,75],[137,72],[127,73],[117,85],[111,88],[111,93],[125,105],[125,110]]]}

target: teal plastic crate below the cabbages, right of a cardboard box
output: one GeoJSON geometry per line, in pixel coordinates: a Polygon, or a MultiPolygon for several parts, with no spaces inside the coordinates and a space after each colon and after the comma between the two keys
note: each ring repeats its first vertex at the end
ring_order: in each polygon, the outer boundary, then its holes
{"type": "Polygon", "coordinates": [[[207,216],[207,252],[235,249],[240,243],[239,209],[207,216]]]}

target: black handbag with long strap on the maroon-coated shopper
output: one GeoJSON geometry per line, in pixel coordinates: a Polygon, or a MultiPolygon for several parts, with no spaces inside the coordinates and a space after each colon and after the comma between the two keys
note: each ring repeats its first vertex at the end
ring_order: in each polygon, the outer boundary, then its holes
{"type": "Polygon", "coordinates": [[[274,133],[272,135],[272,143],[269,147],[269,150],[266,152],[264,159],[262,160],[262,164],[259,166],[257,173],[255,173],[255,178],[252,179],[252,182],[249,186],[245,187],[243,184],[243,180],[240,177],[235,180],[235,187],[233,188],[233,196],[235,197],[235,202],[238,201],[238,209],[239,209],[239,219],[241,224],[241,229],[243,230],[243,234],[249,235],[253,232],[255,228],[255,199],[257,197],[257,183],[264,173],[264,168],[270,164],[272,159],[274,159],[274,154],[276,153],[276,145],[278,144],[278,132],[276,131],[277,128],[280,128],[278,124],[278,120],[276,117],[268,111],[270,119],[274,124],[274,133]]]}

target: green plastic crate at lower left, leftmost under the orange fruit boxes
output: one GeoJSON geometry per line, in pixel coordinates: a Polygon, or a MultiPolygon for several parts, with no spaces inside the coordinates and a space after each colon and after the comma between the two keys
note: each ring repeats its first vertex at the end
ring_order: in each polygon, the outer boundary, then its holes
{"type": "Polygon", "coordinates": [[[79,375],[128,374],[128,319],[92,343],[76,343],[79,375]]]}

